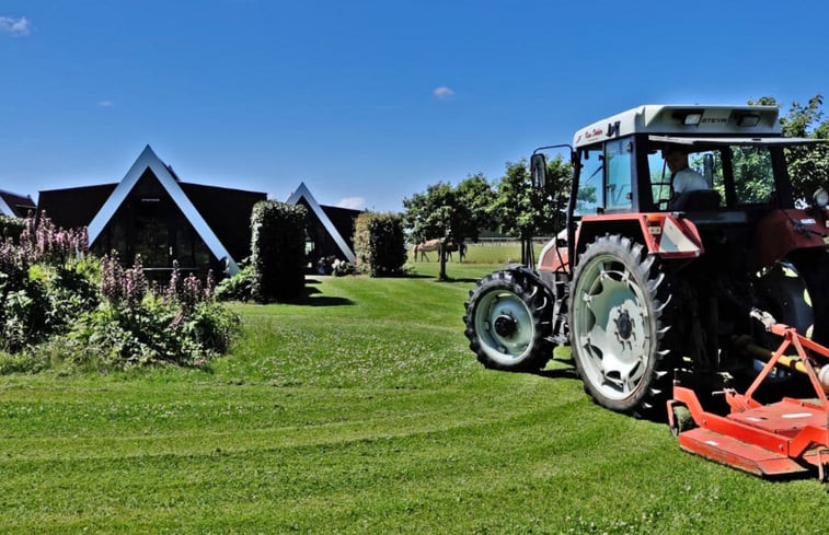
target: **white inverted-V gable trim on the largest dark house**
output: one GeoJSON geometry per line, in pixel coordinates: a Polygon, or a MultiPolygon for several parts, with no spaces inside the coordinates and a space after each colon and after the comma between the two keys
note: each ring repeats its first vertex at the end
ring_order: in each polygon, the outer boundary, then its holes
{"type": "Polygon", "coordinates": [[[164,165],[164,162],[152,152],[149,144],[143,149],[143,152],[141,152],[138,160],[136,160],[136,163],[129,168],[124,179],[115,187],[113,193],[106,199],[106,202],[104,202],[104,206],[101,207],[101,210],[99,210],[92,219],[92,222],[89,224],[89,243],[94,243],[97,236],[101,235],[106,223],[108,223],[113,216],[115,216],[118,207],[124,202],[127,195],[129,195],[129,191],[133,190],[138,183],[138,179],[148,167],[156,175],[156,178],[161,183],[161,186],[166,190],[168,195],[173,199],[173,202],[175,202],[182,213],[184,213],[184,217],[193,225],[193,229],[195,229],[202,241],[205,242],[205,245],[210,249],[210,253],[212,253],[216,258],[219,258],[220,260],[224,259],[228,263],[228,275],[232,276],[238,274],[239,266],[235,260],[233,260],[228,253],[228,249],[224,248],[224,245],[221,244],[205,219],[198,210],[196,210],[196,207],[193,206],[193,202],[191,202],[184,194],[179,183],[175,182],[175,178],[173,178],[173,175],[170,173],[168,166],[164,165]]]}

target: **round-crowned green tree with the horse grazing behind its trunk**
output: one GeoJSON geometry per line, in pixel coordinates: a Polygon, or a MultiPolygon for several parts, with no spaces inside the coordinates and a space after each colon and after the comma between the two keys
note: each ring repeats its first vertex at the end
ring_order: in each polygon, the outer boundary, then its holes
{"type": "Polygon", "coordinates": [[[403,221],[411,229],[412,239],[416,243],[440,240],[440,280],[447,279],[444,251],[447,240],[459,244],[477,240],[481,230],[491,225],[490,207],[494,198],[492,186],[477,174],[468,176],[457,187],[439,182],[425,193],[403,199],[403,221]]]}

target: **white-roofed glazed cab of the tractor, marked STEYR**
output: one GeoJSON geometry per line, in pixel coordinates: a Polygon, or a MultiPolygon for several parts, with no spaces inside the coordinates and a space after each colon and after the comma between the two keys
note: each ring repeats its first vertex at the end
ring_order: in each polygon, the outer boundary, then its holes
{"type": "Polygon", "coordinates": [[[576,132],[574,212],[792,207],[782,148],[809,142],[783,138],[772,106],[641,106],[576,132]]]}

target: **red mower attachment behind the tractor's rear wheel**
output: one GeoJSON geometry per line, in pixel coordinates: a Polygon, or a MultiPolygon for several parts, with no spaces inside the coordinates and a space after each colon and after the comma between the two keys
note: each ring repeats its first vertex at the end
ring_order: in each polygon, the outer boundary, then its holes
{"type": "Polygon", "coordinates": [[[783,338],[778,350],[770,353],[745,394],[724,389],[730,409],[727,416],[706,411],[694,391],[675,381],[673,398],[668,402],[671,432],[682,450],[758,476],[805,473],[817,467],[819,479],[825,481],[829,468],[829,349],[793,327],[774,323],[765,313],[752,311],[751,315],[783,338]],[[791,347],[797,351],[796,358],[784,354],[791,347]],[[822,367],[818,359],[824,361],[822,367]],[[755,392],[774,367],[781,365],[808,375],[816,397],[785,397],[769,405],[757,402],[755,392]]]}

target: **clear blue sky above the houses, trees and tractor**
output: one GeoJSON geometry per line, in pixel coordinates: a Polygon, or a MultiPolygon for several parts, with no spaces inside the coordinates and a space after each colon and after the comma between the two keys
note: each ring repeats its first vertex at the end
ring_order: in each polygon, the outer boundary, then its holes
{"type": "Polygon", "coordinates": [[[0,188],[185,182],[401,210],[645,103],[829,93],[829,2],[0,2],[0,188]]]}

